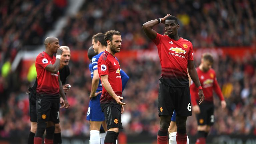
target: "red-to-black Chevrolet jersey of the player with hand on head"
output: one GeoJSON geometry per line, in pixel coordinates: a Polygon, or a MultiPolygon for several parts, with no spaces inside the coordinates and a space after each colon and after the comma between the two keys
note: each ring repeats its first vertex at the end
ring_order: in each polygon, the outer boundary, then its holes
{"type": "Polygon", "coordinates": [[[188,86],[188,61],[194,60],[192,43],[182,37],[176,41],[159,33],[152,41],[157,46],[162,66],[160,80],[171,87],[188,86]]]}

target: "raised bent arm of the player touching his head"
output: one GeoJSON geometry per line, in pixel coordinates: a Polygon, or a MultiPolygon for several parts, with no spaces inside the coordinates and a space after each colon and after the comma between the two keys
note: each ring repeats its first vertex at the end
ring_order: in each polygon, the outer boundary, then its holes
{"type": "MultiPolygon", "coordinates": [[[[171,16],[170,14],[167,14],[165,17],[161,18],[161,23],[165,23],[165,19],[168,17],[168,16],[171,16]]],[[[144,32],[146,33],[146,35],[148,36],[148,38],[150,39],[156,39],[156,31],[153,30],[152,28],[157,25],[159,23],[159,21],[157,19],[155,20],[151,20],[151,21],[148,21],[146,23],[143,24],[142,28],[144,30],[144,32]]]]}

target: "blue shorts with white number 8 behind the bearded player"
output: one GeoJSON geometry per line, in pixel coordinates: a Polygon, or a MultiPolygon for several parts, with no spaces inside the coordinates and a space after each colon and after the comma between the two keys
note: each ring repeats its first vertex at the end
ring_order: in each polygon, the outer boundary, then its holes
{"type": "Polygon", "coordinates": [[[104,121],[105,115],[100,106],[101,93],[92,98],[89,103],[86,120],[88,121],[104,121]]]}

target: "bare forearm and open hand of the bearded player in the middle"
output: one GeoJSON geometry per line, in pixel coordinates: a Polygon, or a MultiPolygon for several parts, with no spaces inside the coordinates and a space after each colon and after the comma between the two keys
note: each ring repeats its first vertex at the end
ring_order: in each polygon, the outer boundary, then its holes
{"type": "Polygon", "coordinates": [[[121,102],[123,97],[116,95],[115,92],[113,91],[113,89],[108,81],[108,75],[101,75],[100,78],[101,78],[102,85],[107,90],[107,92],[116,100],[116,102],[120,105],[126,105],[126,103],[121,102]]]}

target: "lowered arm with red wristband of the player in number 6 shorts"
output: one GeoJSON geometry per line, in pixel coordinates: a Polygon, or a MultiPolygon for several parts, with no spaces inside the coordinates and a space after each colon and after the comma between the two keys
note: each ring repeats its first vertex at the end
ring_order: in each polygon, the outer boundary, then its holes
{"type": "MultiPolygon", "coordinates": [[[[194,65],[194,61],[190,60],[188,61],[188,73],[191,77],[191,79],[193,80],[193,82],[195,83],[196,87],[201,86],[198,75],[197,75],[197,71],[194,65]]],[[[200,98],[199,100],[199,105],[204,101],[204,93],[203,90],[199,90],[198,92],[198,96],[200,98]]]]}

